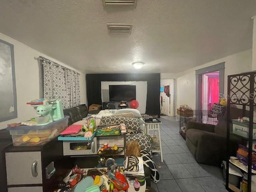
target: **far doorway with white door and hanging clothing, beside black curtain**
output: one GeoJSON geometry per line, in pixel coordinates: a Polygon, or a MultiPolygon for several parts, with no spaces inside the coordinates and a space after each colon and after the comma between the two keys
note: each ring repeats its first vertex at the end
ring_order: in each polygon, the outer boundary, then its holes
{"type": "Polygon", "coordinates": [[[161,116],[174,116],[174,80],[161,79],[160,83],[161,116]]]}

